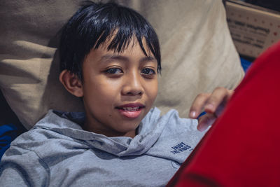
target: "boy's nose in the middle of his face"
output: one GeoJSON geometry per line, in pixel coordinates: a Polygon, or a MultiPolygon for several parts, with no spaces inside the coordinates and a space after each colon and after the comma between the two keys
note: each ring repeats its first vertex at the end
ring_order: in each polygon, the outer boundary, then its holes
{"type": "Polygon", "coordinates": [[[125,78],[125,85],[122,90],[123,95],[143,95],[143,93],[141,75],[132,74],[125,78]]]}

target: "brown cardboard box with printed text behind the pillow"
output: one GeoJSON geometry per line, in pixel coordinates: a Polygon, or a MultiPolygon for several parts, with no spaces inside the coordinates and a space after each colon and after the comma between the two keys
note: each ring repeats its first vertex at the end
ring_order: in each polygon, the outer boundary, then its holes
{"type": "Polygon", "coordinates": [[[239,54],[258,57],[280,40],[279,12],[243,1],[227,1],[226,13],[228,27],[239,54]]]}

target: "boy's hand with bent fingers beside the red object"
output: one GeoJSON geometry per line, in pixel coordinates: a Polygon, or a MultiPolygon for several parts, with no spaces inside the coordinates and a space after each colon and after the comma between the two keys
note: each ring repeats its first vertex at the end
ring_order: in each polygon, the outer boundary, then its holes
{"type": "Polygon", "coordinates": [[[197,130],[204,131],[212,125],[218,116],[221,116],[223,109],[232,97],[233,90],[218,87],[212,93],[197,95],[190,107],[190,118],[197,118],[202,111],[207,113],[198,119],[197,130]]]}

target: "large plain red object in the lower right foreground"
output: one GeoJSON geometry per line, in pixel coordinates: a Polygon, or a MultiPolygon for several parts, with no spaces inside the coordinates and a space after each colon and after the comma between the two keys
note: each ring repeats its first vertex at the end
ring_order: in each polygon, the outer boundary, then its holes
{"type": "Polygon", "coordinates": [[[280,186],[279,106],[280,42],[253,62],[167,186],[280,186]]]}

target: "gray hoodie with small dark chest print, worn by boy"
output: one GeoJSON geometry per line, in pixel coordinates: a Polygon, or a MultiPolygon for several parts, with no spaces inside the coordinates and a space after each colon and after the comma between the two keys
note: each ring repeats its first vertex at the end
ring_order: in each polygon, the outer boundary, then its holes
{"type": "Polygon", "coordinates": [[[152,109],[133,139],[87,132],[84,118],[49,111],[3,155],[0,186],[165,186],[204,135],[174,110],[152,109]]]}

